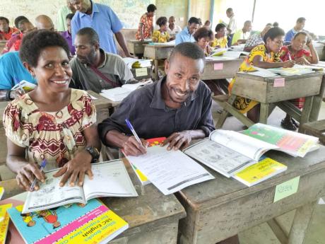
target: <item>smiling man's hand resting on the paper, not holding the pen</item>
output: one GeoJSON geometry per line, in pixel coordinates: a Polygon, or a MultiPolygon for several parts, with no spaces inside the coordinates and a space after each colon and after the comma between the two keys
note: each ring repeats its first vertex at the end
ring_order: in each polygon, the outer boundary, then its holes
{"type": "Polygon", "coordinates": [[[166,144],[169,144],[167,146],[167,150],[174,149],[175,151],[178,149],[184,149],[189,146],[189,143],[191,142],[191,133],[190,131],[184,131],[184,132],[175,132],[171,134],[165,141],[163,142],[162,146],[165,146],[166,144]]]}

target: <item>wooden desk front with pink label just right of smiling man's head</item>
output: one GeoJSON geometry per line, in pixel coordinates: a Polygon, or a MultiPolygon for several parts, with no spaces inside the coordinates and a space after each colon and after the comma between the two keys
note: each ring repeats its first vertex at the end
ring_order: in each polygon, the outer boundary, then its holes
{"type": "Polygon", "coordinates": [[[240,68],[240,64],[242,64],[242,59],[206,60],[206,66],[201,76],[201,80],[232,78],[240,68]],[[215,67],[215,64],[218,66],[215,67]]]}

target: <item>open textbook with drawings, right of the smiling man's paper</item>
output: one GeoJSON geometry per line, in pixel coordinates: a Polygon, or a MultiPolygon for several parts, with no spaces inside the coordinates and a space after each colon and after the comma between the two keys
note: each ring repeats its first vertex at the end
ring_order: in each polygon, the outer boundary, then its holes
{"type": "Polygon", "coordinates": [[[184,153],[215,171],[231,177],[257,163],[268,150],[303,157],[317,149],[317,137],[254,124],[243,133],[217,129],[208,139],[189,146],[184,153]]]}

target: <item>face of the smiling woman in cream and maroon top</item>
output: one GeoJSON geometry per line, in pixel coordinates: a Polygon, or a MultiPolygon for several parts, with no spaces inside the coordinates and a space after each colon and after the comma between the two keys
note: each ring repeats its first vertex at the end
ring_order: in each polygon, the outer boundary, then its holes
{"type": "Polygon", "coordinates": [[[45,47],[40,52],[37,66],[31,69],[42,91],[61,93],[69,88],[72,70],[62,47],[45,47]]]}

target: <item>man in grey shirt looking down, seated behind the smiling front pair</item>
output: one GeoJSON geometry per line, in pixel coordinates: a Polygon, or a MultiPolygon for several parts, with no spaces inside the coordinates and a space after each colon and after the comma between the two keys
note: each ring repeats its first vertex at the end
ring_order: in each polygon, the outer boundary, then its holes
{"type": "Polygon", "coordinates": [[[71,60],[73,88],[100,93],[135,81],[122,57],[100,48],[100,38],[93,28],[79,30],[74,45],[77,57],[71,60]]]}

